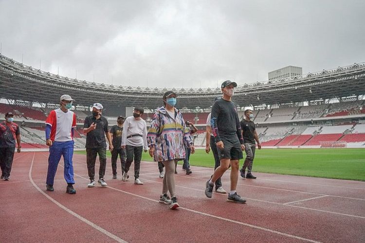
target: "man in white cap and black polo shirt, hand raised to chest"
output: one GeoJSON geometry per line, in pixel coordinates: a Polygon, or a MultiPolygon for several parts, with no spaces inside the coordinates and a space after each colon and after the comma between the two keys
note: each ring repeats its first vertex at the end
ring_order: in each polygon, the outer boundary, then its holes
{"type": "Polygon", "coordinates": [[[92,115],[85,118],[84,133],[86,133],[86,162],[88,164],[88,174],[90,183],[88,187],[95,186],[95,161],[99,154],[99,180],[98,183],[102,187],[108,186],[104,180],[105,170],[107,166],[107,135],[110,152],[113,152],[113,144],[111,142],[110,133],[108,131],[108,120],[102,116],[103,105],[95,103],[92,106],[92,115]]]}

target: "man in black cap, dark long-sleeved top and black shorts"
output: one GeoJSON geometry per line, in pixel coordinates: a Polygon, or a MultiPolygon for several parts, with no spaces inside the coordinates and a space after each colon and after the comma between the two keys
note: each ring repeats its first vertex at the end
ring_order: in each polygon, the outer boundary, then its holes
{"type": "Polygon", "coordinates": [[[208,179],[205,187],[205,195],[212,197],[214,183],[220,178],[231,165],[231,191],[228,194],[228,201],[245,203],[236,192],[238,180],[239,159],[243,158],[243,145],[241,127],[239,124],[237,107],[232,102],[235,82],[224,81],[221,85],[223,98],[216,101],[212,107],[211,126],[214,138],[216,139],[220,166],[214,171],[211,179],[208,179]]]}

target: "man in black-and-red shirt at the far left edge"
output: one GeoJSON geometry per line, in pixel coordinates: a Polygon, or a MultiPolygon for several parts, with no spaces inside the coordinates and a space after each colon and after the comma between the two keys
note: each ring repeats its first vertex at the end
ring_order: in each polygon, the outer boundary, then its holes
{"type": "Polygon", "coordinates": [[[15,140],[18,143],[20,153],[20,130],[18,124],[14,123],[13,113],[5,114],[5,121],[0,123],[0,168],[1,179],[8,181],[15,153],[15,140]]]}

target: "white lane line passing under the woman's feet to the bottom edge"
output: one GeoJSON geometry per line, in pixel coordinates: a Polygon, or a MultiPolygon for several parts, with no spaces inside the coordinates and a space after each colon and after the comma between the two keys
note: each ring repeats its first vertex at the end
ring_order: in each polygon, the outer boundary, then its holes
{"type": "MultiPolygon", "coordinates": [[[[78,175],[78,174],[75,174],[75,175],[77,175],[78,177],[83,178],[83,179],[85,179],[87,181],[89,180],[88,178],[83,177],[81,175],[78,175]]],[[[149,200],[151,202],[155,202],[155,203],[158,203],[159,202],[158,200],[155,200],[155,199],[151,199],[151,198],[148,198],[148,197],[145,197],[145,196],[141,196],[141,195],[138,195],[138,194],[134,194],[134,193],[131,193],[131,192],[128,192],[128,191],[119,190],[117,188],[113,188],[113,187],[110,187],[110,186],[107,186],[107,188],[112,189],[112,190],[115,190],[115,191],[120,191],[120,192],[126,193],[128,195],[132,195],[132,196],[136,196],[136,197],[139,197],[139,198],[143,198],[143,199],[149,200]]],[[[239,222],[239,221],[236,221],[236,220],[219,217],[219,216],[216,216],[216,215],[204,213],[204,212],[197,211],[197,210],[193,210],[193,209],[189,209],[189,208],[184,208],[184,207],[179,207],[179,208],[181,208],[183,210],[186,210],[186,211],[193,212],[193,213],[197,213],[197,214],[201,214],[201,215],[204,215],[204,216],[208,216],[208,217],[211,217],[211,218],[216,218],[216,219],[224,220],[224,221],[231,222],[231,223],[234,223],[234,224],[238,224],[238,225],[242,225],[242,226],[248,226],[248,227],[255,228],[255,229],[260,229],[260,230],[263,230],[263,231],[267,231],[267,232],[274,233],[274,234],[278,234],[278,235],[283,235],[283,236],[290,237],[290,238],[294,238],[294,239],[297,239],[297,240],[302,240],[302,241],[312,242],[312,243],[320,243],[318,241],[310,240],[310,239],[303,238],[303,237],[300,237],[300,236],[283,233],[283,232],[276,231],[276,230],[272,230],[272,229],[269,229],[269,228],[264,228],[264,227],[260,227],[260,226],[255,226],[255,225],[250,225],[250,224],[242,223],[242,222],[239,222]]]]}

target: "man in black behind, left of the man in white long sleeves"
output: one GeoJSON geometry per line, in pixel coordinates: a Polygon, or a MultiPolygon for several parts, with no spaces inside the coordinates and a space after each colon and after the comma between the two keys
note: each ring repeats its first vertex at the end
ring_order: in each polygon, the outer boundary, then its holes
{"type": "Polygon", "coordinates": [[[113,150],[111,152],[111,169],[113,171],[113,179],[117,178],[117,160],[120,158],[122,175],[124,173],[124,166],[126,163],[126,151],[122,149],[122,134],[124,117],[119,116],[117,118],[117,124],[110,128],[110,136],[113,144],[113,150]]]}

